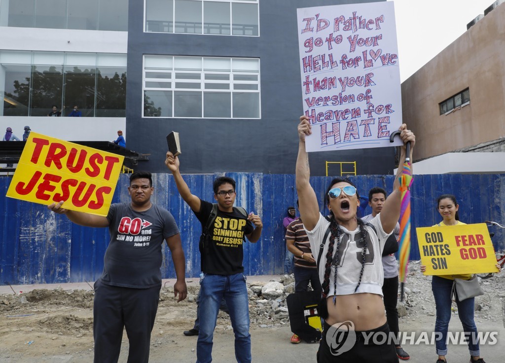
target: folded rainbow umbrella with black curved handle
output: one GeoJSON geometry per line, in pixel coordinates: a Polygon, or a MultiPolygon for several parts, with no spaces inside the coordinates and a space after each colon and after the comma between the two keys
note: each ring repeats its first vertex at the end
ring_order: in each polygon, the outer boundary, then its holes
{"type": "MultiPolygon", "coordinates": [[[[396,135],[399,135],[399,131],[395,131],[391,134],[389,141],[393,142],[396,135]]],[[[400,209],[400,238],[399,238],[399,267],[398,267],[398,279],[401,282],[401,294],[400,301],[403,301],[403,288],[405,286],[405,281],[407,279],[407,267],[409,266],[409,256],[410,256],[410,187],[412,185],[412,163],[410,161],[410,142],[406,145],[407,155],[405,157],[405,162],[403,163],[403,169],[400,176],[400,192],[401,192],[401,209],[400,209]]],[[[399,166],[398,166],[399,167],[399,166]]]]}

